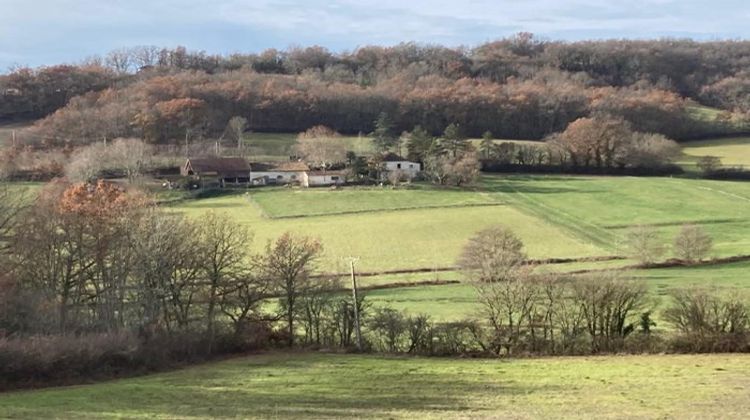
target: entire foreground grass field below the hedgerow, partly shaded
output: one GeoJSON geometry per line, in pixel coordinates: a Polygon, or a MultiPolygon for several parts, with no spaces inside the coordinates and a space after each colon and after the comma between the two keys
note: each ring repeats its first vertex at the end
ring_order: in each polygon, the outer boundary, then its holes
{"type": "Polygon", "coordinates": [[[750,355],[270,354],[0,395],[2,418],[743,418],[750,355]]]}

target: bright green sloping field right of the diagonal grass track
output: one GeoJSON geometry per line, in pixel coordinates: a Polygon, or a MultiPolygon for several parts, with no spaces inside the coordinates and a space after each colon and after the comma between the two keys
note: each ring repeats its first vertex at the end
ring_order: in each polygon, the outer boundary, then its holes
{"type": "Polygon", "coordinates": [[[682,178],[486,176],[486,191],[572,235],[616,252],[631,226],[671,244],[684,223],[703,226],[716,256],[750,253],[750,183],[682,178]]]}

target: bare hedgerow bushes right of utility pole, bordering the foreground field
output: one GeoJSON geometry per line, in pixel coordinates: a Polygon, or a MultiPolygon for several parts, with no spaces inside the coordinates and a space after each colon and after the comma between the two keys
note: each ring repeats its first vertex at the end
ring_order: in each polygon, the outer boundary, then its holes
{"type": "Polygon", "coordinates": [[[614,278],[487,286],[480,319],[437,323],[378,308],[365,322],[372,350],[428,356],[542,356],[750,351],[750,307],[734,297],[677,290],[654,330],[655,302],[614,278]]]}

